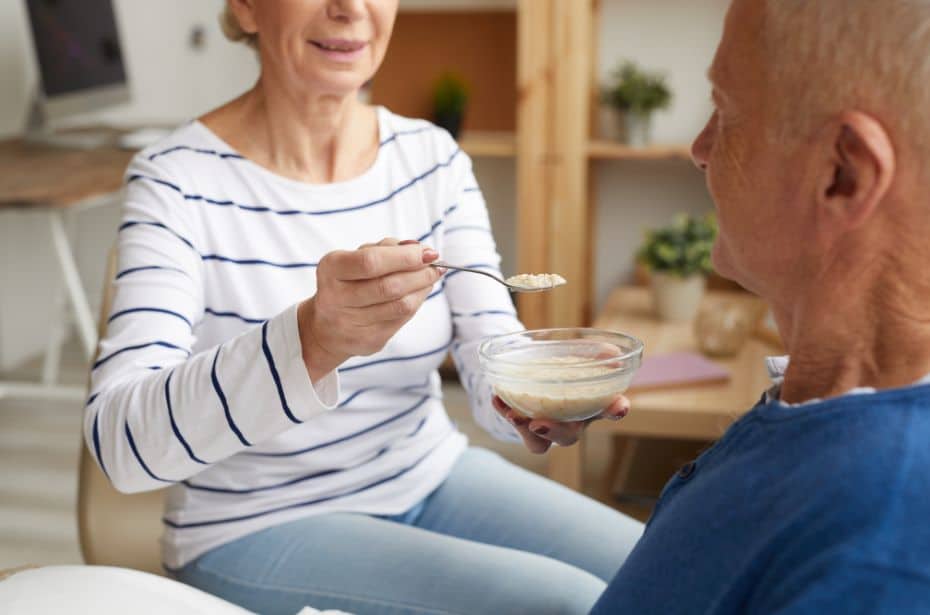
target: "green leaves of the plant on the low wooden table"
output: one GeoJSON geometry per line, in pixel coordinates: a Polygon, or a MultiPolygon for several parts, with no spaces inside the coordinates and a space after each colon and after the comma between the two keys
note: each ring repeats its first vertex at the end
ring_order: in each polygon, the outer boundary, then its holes
{"type": "Polygon", "coordinates": [[[652,271],[687,277],[713,271],[710,253],[717,238],[713,214],[695,217],[681,214],[666,227],[646,232],[637,259],[652,271]]]}

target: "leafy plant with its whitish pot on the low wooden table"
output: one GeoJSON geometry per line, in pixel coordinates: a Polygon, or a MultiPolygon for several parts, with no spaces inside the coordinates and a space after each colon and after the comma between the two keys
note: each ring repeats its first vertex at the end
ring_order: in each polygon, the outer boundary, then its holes
{"type": "Polygon", "coordinates": [[[691,320],[713,271],[710,253],[717,237],[713,214],[680,215],[667,227],[647,232],[638,260],[650,271],[656,311],[663,320],[691,320]]]}

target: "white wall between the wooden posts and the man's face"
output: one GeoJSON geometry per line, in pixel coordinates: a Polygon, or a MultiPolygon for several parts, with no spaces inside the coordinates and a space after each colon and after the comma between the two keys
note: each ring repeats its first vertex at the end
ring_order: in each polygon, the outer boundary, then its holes
{"type": "MultiPolygon", "coordinates": [[[[623,60],[668,75],[675,98],[655,118],[659,143],[691,143],[711,112],[706,72],[723,30],[729,0],[602,0],[602,82],[623,60]]],[[[683,161],[597,165],[597,306],[633,270],[634,254],[650,226],[676,212],[713,208],[702,175],[683,161]]]]}

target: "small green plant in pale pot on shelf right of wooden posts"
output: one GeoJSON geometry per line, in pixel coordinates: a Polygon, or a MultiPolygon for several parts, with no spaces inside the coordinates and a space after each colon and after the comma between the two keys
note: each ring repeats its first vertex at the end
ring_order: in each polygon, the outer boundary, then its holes
{"type": "Polygon", "coordinates": [[[652,114],[668,108],[672,92],[664,75],[643,71],[627,61],[614,71],[601,99],[614,110],[625,142],[643,147],[652,142],[652,114]]]}

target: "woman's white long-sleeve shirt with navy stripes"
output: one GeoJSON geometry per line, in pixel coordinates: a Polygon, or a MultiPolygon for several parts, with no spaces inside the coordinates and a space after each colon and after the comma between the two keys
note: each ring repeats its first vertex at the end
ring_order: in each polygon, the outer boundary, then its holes
{"type": "Polygon", "coordinates": [[[326,253],[393,236],[499,267],[468,157],[427,122],[378,115],[376,161],[346,182],[278,176],[199,122],[130,164],[85,435],[117,488],[170,486],[169,569],[298,517],[415,505],[466,446],[442,404],[447,351],[478,423],[515,439],[476,348],[521,325],[483,276],[448,274],[381,352],[308,377],[296,306],[326,253]]]}

